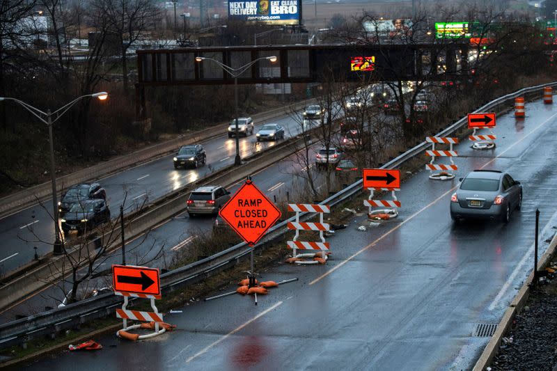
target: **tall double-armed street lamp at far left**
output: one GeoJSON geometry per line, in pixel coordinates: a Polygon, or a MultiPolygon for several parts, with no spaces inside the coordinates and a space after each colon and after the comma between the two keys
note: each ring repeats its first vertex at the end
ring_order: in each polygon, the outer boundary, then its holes
{"type": "Polygon", "coordinates": [[[52,112],[47,110],[46,112],[41,111],[40,109],[31,106],[31,104],[27,104],[22,100],[18,100],[15,98],[10,97],[0,97],[0,102],[4,100],[12,100],[17,104],[23,106],[24,109],[31,112],[33,116],[38,118],[42,123],[45,123],[48,127],[48,135],[49,135],[49,142],[50,142],[50,179],[52,181],[52,216],[54,217],[54,254],[60,255],[63,251],[62,240],[60,238],[60,228],[58,226],[58,200],[56,199],[56,176],[54,175],[54,140],[52,139],[52,124],[58,121],[58,118],[61,118],[64,113],[68,111],[74,104],[76,104],[79,100],[82,100],[87,97],[97,98],[98,100],[106,100],[109,96],[109,93],[102,91],[100,93],[93,93],[87,95],[81,95],[81,97],[77,97],[76,99],[72,100],[72,102],[65,104],[65,106],[61,106],[56,111],[52,112]],[[53,119],[54,116],[54,119],[53,119]]]}

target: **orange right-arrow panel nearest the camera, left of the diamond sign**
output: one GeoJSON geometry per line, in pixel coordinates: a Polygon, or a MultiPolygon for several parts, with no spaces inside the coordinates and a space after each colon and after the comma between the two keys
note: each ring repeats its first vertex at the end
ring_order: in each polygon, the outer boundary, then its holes
{"type": "Polygon", "coordinates": [[[134,265],[112,266],[114,291],[160,296],[159,269],[134,265]]]}

